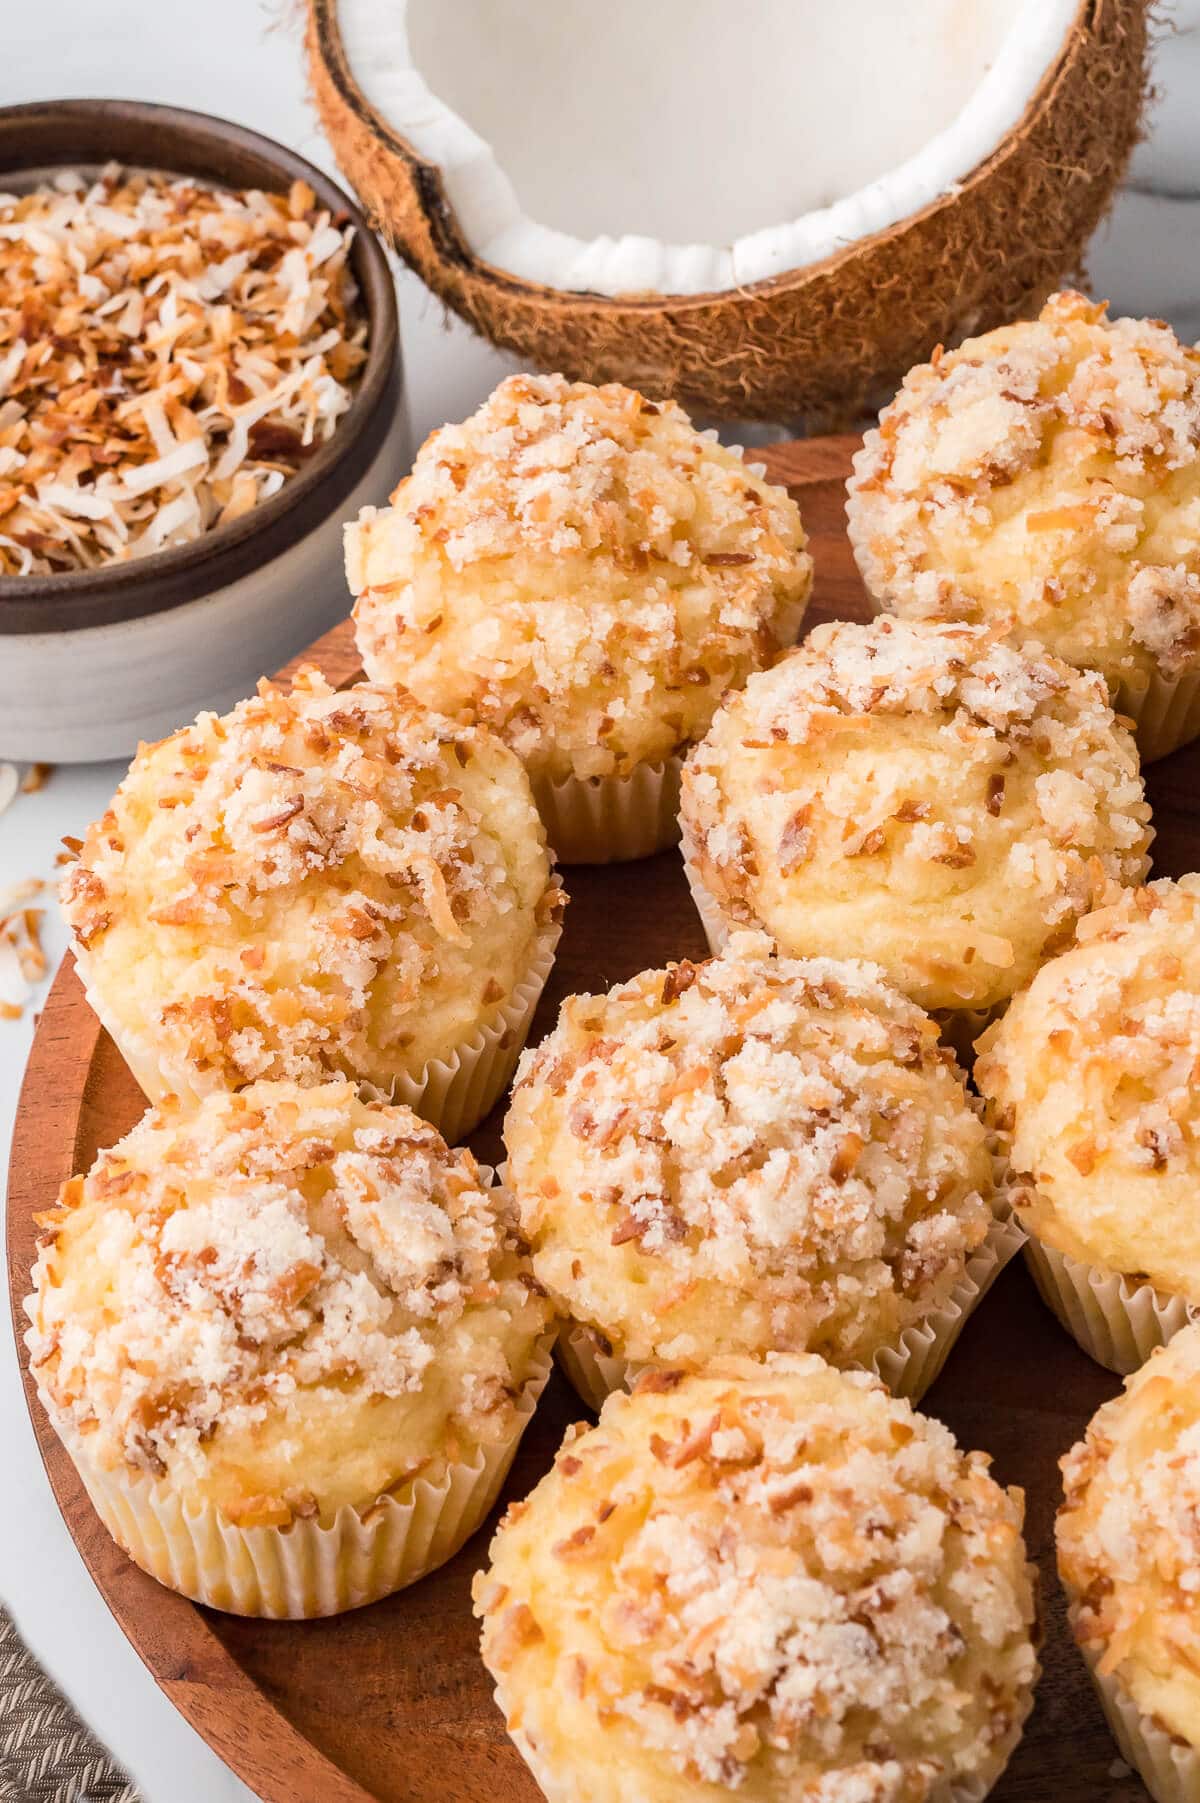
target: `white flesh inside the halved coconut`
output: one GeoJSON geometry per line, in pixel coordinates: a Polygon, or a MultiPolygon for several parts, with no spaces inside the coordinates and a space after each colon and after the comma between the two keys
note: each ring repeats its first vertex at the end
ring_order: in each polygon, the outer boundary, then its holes
{"type": "Polygon", "coordinates": [[[1079,0],[339,0],[378,123],[470,252],[546,288],[712,294],[953,191],[1079,0]]]}

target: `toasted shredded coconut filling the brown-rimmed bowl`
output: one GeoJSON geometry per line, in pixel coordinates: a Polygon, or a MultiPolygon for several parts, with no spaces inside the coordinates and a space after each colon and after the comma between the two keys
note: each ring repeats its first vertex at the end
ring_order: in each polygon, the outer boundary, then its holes
{"type": "Polygon", "coordinates": [[[0,195],[0,575],[144,557],[276,494],[366,357],[312,188],[110,164],[0,195]]]}

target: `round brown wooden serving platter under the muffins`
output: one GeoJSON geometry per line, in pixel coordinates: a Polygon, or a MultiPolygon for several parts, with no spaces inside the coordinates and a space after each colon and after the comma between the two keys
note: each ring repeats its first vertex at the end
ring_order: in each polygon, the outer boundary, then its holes
{"type": "MultiPolygon", "coordinates": [[[[854,438],[778,445],[764,453],[804,512],[816,559],[809,624],[867,613],[843,523],[843,483],[854,438]]],[[[350,622],[305,658],[332,682],[357,674],[350,622]]],[[[285,673],[286,674],[286,673],[285,673]]],[[[1155,871],[1200,867],[1200,746],[1148,775],[1159,837],[1155,871]]],[[[85,822],[79,822],[83,828],[85,822]]],[[[705,952],[677,853],[643,864],[568,871],[571,905],[559,961],[542,997],[537,1040],[560,999],[607,988],[668,957],[705,952]]],[[[20,1345],[22,1298],[36,1230],[59,1183],[86,1170],[99,1147],[126,1132],[144,1107],[112,1042],[92,1017],[70,957],[59,970],[34,1039],[13,1143],[7,1258],[18,1356],[45,1468],[79,1554],[146,1666],[220,1756],[265,1803],[537,1803],[539,1792],[508,1744],[479,1662],[468,1590],[483,1563],[479,1533],[443,1570],[350,1615],[259,1623],[218,1615],[162,1590],[114,1545],[34,1397],[20,1345]]],[[[499,1114],[472,1143],[499,1149],[499,1114]]],[[[1092,1365],[1038,1302],[1023,1266],[1009,1266],[968,1323],[926,1399],[962,1446],[986,1448],[996,1475],[1027,1493],[1027,1534],[1041,1565],[1043,1677],[1038,1706],[995,1803],[1144,1803],[1070,1644],[1054,1578],[1052,1520],[1058,1459],[1119,1381],[1092,1365]]],[[[548,1468],[582,1405],[551,1379],[526,1433],[506,1498],[548,1468]]],[[[629,1803],[638,1803],[631,1796],[629,1803]]]]}

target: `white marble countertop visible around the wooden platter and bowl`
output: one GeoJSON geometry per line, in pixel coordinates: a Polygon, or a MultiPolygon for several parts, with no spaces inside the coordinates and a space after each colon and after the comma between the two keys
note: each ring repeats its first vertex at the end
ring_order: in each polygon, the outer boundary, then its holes
{"type": "MultiPolygon", "coordinates": [[[[305,99],[290,0],[34,0],[5,9],[0,105],[123,96],[223,114],[333,169],[305,99]]],[[[1157,314],[1200,337],[1200,0],[1164,9],[1162,101],[1130,189],[1092,249],[1092,290],[1119,312],[1157,314]]],[[[512,364],[472,337],[413,276],[400,276],[407,393],[416,440],[458,418],[512,364]]],[[[103,810],[115,764],[59,768],[0,819],[0,889],[50,876],[63,833],[103,810]]],[[[63,932],[47,916],[50,968],[63,932]]],[[[32,1011],[0,1022],[0,1170],[32,1033],[32,1011]]],[[[49,1201],[49,1199],[47,1199],[49,1201]]],[[[25,1414],[11,1350],[0,1350],[0,1597],[81,1715],[137,1778],[148,1803],[225,1803],[249,1792],[160,1695],[115,1626],[59,1520],[25,1414]]]]}

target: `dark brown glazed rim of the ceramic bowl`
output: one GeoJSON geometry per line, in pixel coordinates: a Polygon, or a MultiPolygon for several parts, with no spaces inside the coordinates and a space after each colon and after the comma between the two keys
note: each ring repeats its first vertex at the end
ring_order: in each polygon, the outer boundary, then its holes
{"type": "Polygon", "coordinates": [[[332,438],[277,494],[227,526],[135,563],[63,575],[0,577],[0,636],[65,633],[162,613],[211,595],[288,550],[362,480],[400,406],[400,326],[387,258],[355,202],[312,162],[245,126],[142,101],[34,101],[0,106],[0,189],[68,168],[124,162],[225,188],[310,184],[355,227],[351,269],[368,314],[368,361],[332,438]]]}

